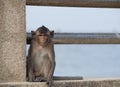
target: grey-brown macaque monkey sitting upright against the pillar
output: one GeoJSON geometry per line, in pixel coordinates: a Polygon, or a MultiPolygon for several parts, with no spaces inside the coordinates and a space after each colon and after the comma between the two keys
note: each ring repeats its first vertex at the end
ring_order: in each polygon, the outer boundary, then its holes
{"type": "Polygon", "coordinates": [[[42,26],[31,33],[32,40],[28,53],[28,81],[47,81],[51,87],[55,69],[55,53],[52,42],[54,31],[42,26]]]}

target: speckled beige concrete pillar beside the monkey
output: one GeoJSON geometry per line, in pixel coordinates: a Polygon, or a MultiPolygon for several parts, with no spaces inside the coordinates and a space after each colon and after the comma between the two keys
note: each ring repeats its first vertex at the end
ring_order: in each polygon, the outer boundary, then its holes
{"type": "Polygon", "coordinates": [[[0,0],[0,83],[26,76],[26,0],[0,0]]]}

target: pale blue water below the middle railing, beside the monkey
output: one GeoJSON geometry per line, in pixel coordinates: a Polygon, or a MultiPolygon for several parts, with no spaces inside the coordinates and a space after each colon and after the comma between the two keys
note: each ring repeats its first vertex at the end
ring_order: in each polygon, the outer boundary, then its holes
{"type": "Polygon", "coordinates": [[[120,45],[55,45],[55,76],[120,77],[120,45]]]}

